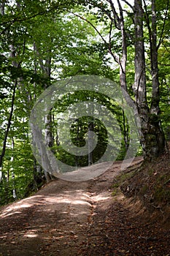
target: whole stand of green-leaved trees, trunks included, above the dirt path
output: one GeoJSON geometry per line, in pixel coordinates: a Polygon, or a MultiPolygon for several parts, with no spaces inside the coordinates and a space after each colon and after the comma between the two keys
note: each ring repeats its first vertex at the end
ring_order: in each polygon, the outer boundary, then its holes
{"type": "MultiPolygon", "coordinates": [[[[97,75],[120,84],[141,123],[136,154],[150,161],[163,154],[170,139],[169,0],[0,1],[0,10],[0,204],[53,178],[34,158],[28,120],[36,99],[55,80],[97,75]]],[[[81,147],[88,130],[96,132],[93,154],[72,156],[58,137],[57,113],[91,98],[112,111],[120,125],[117,159],[128,150],[124,111],[104,95],[71,92],[45,120],[47,145],[66,164],[96,162],[107,145],[104,125],[90,116],[74,121],[71,137],[81,147]]]]}

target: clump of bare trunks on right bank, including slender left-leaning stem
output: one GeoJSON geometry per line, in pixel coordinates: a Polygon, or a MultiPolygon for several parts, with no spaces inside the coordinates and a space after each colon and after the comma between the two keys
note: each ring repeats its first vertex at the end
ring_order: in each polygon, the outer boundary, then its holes
{"type": "MultiPolygon", "coordinates": [[[[147,103],[147,83],[145,71],[145,56],[144,56],[144,10],[142,8],[142,0],[134,0],[134,7],[131,7],[134,12],[134,48],[135,48],[135,80],[134,80],[134,97],[130,97],[126,82],[126,62],[127,62],[127,33],[124,26],[123,8],[120,1],[117,0],[120,14],[115,13],[113,1],[109,0],[116,23],[119,25],[122,36],[122,56],[119,61],[120,65],[120,85],[123,89],[123,97],[125,97],[128,105],[133,106],[134,114],[139,117],[141,125],[141,144],[143,148],[144,159],[152,160],[155,157],[163,154],[165,149],[165,138],[160,122],[159,108],[159,80],[158,80],[158,48],[157,48],[157,27],[156,27],[156,8],[155,0],[152,0],[152,29],[148,29],[150,34],[150,63],[152,70],[152,101],[149,107],[147,103]]],[[[149,22],[150,19],[148,19],[149,22]]],[[[150,26],[150,24],[149,24],[150,26]]],[[[112,53],[112,56],[114,53],[112,53]]]]}

